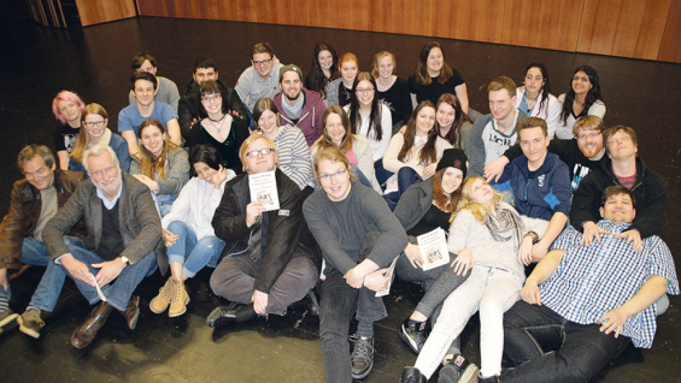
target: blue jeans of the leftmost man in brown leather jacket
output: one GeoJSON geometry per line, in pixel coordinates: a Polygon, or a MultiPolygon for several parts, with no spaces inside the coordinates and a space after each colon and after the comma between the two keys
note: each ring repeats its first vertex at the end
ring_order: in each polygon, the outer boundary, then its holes
{"type": "MultiPolygon", "coordinates": [[[[85,247],[83,241],[75,236],[64,236],[64,243],[66,245],[85,247]]],[[[24,243],[21,245],[20,261],[26,265],[47,266],[30,301],[33,306],[40,310],[54,310],[64,286],[66,272],[55,265],[50,254],[47,252],[45,244],[33,236],[24,238],[24,243]]],[[[5,295],[9,300],[12,297],[12,289],[10,288],[5,291],[4,288],[0,287],[0,295],[5,295]]]]}

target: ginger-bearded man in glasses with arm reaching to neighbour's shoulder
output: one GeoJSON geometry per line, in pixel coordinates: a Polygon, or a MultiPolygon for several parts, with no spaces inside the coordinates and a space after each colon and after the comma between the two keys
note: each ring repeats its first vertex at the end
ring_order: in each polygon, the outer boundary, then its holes
{"type": "MultiPolygon", "coordinates": [[[[603,146],[603,129],[601,118],[595,115],[585,115],[574,122],[572,139],[553,138],[549,144],[550,153],[558,155],[570,170],[573,192],[592,169],[601,166],[608,158],[606,148],[603,146]]],[[[522,155],[523,150],[520,149],[520,144],[514,144],[504,152],[503,156],[493,160],[484,168],[487,180],[497,180],[504,171],[504,167],[522,155]]]]}

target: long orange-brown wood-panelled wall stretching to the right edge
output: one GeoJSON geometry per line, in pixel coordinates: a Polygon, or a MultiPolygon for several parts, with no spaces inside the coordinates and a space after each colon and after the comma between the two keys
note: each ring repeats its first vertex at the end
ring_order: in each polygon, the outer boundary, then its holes
{"type": "Polygon", "coordinates": [[[137,0],[137,3],[140,15],[147,16],[372,30],[642,59],[659,56],[681,62],[681,0],[137,0]]]}

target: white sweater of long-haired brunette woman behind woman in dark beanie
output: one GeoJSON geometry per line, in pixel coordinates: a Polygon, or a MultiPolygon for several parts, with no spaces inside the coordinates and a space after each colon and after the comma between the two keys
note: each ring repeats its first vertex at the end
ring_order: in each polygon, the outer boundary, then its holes
{"type": "MultiPolygon", "coordinates": [[[[397,190],[397,171],[399,171],[401,167],[408,166],[420,172],[426,166],[430,165],[419,164],[419,162],[421,161],[419,159],[421,149],[423,149],[426,142],[427,141],[419,141],[419,138],[416,138],[414,146],[406,156],[406,160],[400,161],[397,159],[397,156],[399,155],[400,149],[402,149],[402,144],[404,144],[404,135],[402,133],[397,133],[396,135],[392,136],[392,139],[390,139],[390,144],[388,144],[388,149],[386,149],[385,154],[383,154],[383,167],[385,168],[385,170],[392,171],[394,173],[385,182],[386,193],[394,192],[395,190],[397,190]]],[[[436,138],[435,152],[437,153],[437,158],[435,158],[435,162],[439,161],[440,158],[442,158],[442,152],[444,152],[444,149],[450,148],[453,148],[452,144],[444,140],[444,138],[441,137],[436,138]]]]}

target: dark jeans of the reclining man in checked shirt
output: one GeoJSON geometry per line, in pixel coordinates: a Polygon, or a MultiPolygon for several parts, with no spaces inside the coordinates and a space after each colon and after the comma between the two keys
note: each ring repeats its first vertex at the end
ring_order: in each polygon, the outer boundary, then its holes
{"type": "Polygon", "coordinates": [[[630,339],[601,333],[600,324],[576,324],[545,306],[518,301],[504,315],[504,352],[516,365],[503,382],[585,382],[615,359],[630,339]],[[541,344],[559,344],[545,351],[541,344]]]}

